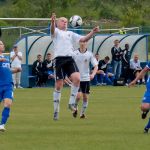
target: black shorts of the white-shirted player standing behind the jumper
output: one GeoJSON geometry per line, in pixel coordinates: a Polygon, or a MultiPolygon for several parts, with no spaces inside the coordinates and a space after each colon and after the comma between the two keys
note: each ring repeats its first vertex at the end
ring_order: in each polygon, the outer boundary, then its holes
{"type": "Polygon", "coordinates": [[[81,81],[79,92],[90,94],[90,81],[81,81]]]}

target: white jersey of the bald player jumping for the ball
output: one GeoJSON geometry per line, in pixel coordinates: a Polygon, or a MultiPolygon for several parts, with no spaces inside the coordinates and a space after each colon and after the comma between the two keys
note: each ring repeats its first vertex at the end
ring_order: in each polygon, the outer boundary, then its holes
{"type": "Polygon", "coordinates": [[[54,45],[54,58],[57,56],[72,56],[74,51],[73,43],[79,43],[81,35],[72,31],[63,31],[55,28],[52,35],[54,45]]]}

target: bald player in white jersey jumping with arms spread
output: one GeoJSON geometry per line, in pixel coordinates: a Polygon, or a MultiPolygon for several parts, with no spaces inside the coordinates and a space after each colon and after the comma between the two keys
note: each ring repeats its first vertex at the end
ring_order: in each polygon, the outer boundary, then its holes
{"type": "Polygon", "coordinates": [[[57,20],[56,15],[52,14],[51,17],[51,37],[54,44],[54,70],[55,70],[55,90],[53,93],[54,100],[54,120],[58,120],[59,103],[61,98],[61,89],[63,87],[63,79],[67,75],[71,81],[71,95],[69,99],[69,108],[75,111],[75,99],[80,85],[80,73],[72,58],[74,50],[73,43],[88,41],[92,36],[99,31],[99,27],[95,27],[86,36],[78,35],[74,32],[67,31],[68,20],[61,17],[57,20]]]}

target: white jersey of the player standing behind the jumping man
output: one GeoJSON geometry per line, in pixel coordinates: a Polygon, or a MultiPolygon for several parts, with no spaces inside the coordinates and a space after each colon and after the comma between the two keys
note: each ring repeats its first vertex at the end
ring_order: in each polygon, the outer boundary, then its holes
{"type": "Polygon", "coordinates": [[[96,58],[89,51],[81,53],[79,50],[74,51],[73,58],[80,72],[80,81],[90,81],[90,63],[98,65],[96,58]]]}

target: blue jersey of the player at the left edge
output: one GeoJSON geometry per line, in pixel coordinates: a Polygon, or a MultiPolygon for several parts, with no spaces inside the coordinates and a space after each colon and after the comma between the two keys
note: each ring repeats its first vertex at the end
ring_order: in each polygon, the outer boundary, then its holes
{"type": "Polygon", "coordinates": [[[0,62],[0,86],[11,84],[13,83],[13,80],[12,72],[10,70],[10,62],[3,55],[1,55],[0,58],[6,59],[4,62],[0,62]]]}

